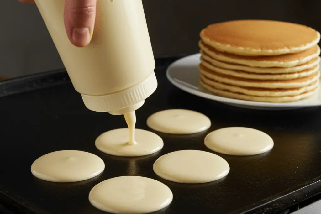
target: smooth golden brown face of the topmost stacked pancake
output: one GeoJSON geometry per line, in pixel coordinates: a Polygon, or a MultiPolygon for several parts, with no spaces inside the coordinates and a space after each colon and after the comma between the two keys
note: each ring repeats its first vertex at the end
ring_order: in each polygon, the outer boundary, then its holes
{"type": "Polygon", "coordinates": [[[209,25],[201,37],[232,47],[277,50],[307,45],[317,40],[318,34],[310,27],[289,22],[238,20],[209,25]]]}

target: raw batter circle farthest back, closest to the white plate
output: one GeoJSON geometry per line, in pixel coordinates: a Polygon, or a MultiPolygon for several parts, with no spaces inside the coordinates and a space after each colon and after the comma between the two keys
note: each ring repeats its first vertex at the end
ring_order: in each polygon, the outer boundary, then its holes
{"type": "Polygon", "coordinates": [[[211,120],[196,111],[168,109],[149,116],[147,125],[163,133],[192,134],[207,130],[211,126],[211,120]]]}

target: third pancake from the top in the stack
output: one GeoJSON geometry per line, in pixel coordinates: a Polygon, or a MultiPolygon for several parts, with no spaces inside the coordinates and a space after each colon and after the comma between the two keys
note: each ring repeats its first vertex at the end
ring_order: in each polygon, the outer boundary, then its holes
{"type": "Polygon", "coordinates": [[[204,51],[200,51],[202,58],[204,58],[206,61],[210,62],[211,64],[215,65],[216,67],[230,69],[230,70],[239,70],[239,71],[246,71],[251,73],[293,73],[293,72],[300,72],[304,71],[310,68],[313,68],[314,66],[318,65],[320,63],[320,57],[312,59],[310,62],[301,64],[295,67],[288,67],[288,68],[279,68],[279,67],[273,67],[273,68],[259,68],[259,67],[249,67],[245,65],[240,64],[234,64],[234,63],[226,63],[222,62],[216,59],[213,59],[211,56],[206,54],[204,51]]]}

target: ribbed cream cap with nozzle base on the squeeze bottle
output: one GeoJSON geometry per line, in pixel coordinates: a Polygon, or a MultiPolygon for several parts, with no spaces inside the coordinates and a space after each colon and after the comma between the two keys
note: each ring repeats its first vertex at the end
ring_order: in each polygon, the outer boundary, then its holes
{"type": "Polygon", "coordinates": [[[144,100],[154,93],[157,88],[155,73],[143,82],[126,90],[102,96],[81,94],[85,106],[97,112],[109,112],[119,115],[134,111],[144,104],[144,100]]]}

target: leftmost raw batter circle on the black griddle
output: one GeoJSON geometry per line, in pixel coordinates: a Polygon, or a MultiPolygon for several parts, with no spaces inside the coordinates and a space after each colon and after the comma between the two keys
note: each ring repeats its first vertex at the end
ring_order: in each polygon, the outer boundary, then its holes
{"type": "Polygon", "coordinates": [[[41,156],[31,165],[31,173],[52,182],[77,182],[99,175],[104,161],[89,152],[77,150],[54,151],[41,156]]]}

